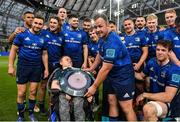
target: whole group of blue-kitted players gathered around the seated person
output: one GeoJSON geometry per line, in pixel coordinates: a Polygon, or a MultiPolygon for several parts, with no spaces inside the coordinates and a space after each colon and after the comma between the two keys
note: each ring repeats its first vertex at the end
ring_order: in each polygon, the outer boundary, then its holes
{"type": "MultiPolygon", "coordinates": [[[[135,108],[141,106],[143,119],[180,117],[180,17],[175,10],[165,12],[167,27],[158,26],[158,17],[150,14],[134,21],[123,21],[124,32],[106,15],[85,18],[79,27],[77,15],[67,17],[65,8],[57,16],[44,18],[25,12],[24,25],[9,36],[12,42],[8,73],[16,76],[18,121],[24,121],[26,91],[29,83],[28,110],[31,121],[37,105],[45,114],[46,84],[52,72],[60,68],[82,68],[95,77],[84,97],[59,95],[61,121],[70,121],[68,103],[74,101],[76,121],[84,121],[84,99],[92,102],[103,83],[102,116],[118,121],[119,108],[126,120],[136,121],[135,108]],[[17,69],[14,62],[18,55],[17,69]],[[38,85],[39,88],[38,88],[38,85]]],[[[56,73],[54,83],[59,86],[56,73]]],[[[52,87],[60,89],[52,82],[52,87]]],[[[99,103],[98,103],[99,104],[99,103]]]]}

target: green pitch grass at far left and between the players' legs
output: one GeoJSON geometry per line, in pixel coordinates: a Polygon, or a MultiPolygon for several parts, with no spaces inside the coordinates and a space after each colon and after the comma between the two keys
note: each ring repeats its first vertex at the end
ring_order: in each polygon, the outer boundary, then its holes
{"type": "MultiPolygon", "coordinates": [[[[0,56],[0,121],[17,120],[17,89],[15,78],[8,75],[8,57],[0,56]]],[[[100,98],[102,94],[100,93],[100,98]]],[[[100,100],[101,101],[101,100],[100,100]]],[[[46,106],[46,108],[48,108],[46,106]]],[[[100,112],[100,111],[99,111],[100,112]]],[[[96,120],[100,120],[100,113],[95,114],[96,120]]],[[[39,121],[47,121],[47,117],[42,117],[35,113],[39,121]]],[[[29,120],[28,111],[25,112],[25,120],[29,120]]]]}

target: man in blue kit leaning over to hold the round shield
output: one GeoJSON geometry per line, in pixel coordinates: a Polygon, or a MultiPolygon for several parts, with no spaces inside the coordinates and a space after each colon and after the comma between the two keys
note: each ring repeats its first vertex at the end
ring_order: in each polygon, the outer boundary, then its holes
{"type": "Polygon", "coordinates": [[[127,120],[135,121],[136,115],[132,106],[134,96],[134,71],[130,56],[120,37],[109,29],[106,15],[96,15],[95,24],[98,35],[103,39],[100,52],[95,62],[87,71],[93,71],[102,62],[96,80],[88,89],[85,96],[92,96],[99,85],[106,79],[109,83],[108,102],[110,105],[110,121],[118,121],[118,104],[122,107],[127,120]]]}

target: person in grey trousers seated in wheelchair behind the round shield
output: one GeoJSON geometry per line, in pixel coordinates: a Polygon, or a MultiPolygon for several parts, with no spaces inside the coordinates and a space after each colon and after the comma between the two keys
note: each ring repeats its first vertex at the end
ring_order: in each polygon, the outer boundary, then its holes
{"type": "MultiPolygon", "coordinates": [[[[69,56],[63,56],[60,59],[60,65],[62,70],[56,71],[51,89],[58,89],[61,91],[59,79],[62,77],[63,70],[72,67],[72,60],[69,56]]],[[[60,92],[59,95],[59,115],[61,121],[70,121],[70,100],[73,102],[74,117],[75,121],[84,121],[85,112],[83,110],[84,98],[78,96],[70,96],[64,92],[60,92]]],[[[87,98],[88,102],[92,101],[92,97],[87,98]]]]}

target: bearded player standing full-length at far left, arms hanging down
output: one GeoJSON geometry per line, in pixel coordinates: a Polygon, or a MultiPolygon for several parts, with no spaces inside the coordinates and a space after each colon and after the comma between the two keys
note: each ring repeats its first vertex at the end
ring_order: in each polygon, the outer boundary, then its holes
{"type": "Polygon", "coordinates": [[[37,121],[34,116],[34,106],[38,83],[41,80],[42,65],[44,64],[44,77],[48,76],[48,54],[44,38],[40,31],[44,24],[44,18],[37,16],[34,18],[32,27],[18,34],[13,41],[9,55],[8,73],[15,76],[14,61],[18,51],[17,62],[17,107],[19,116],[17,121],[24,120],[23,101],[25,99],[27,84],[29,82],[29,118],[37,121]],[[43,62],[43,64],[42,64],[43,62]]]}

